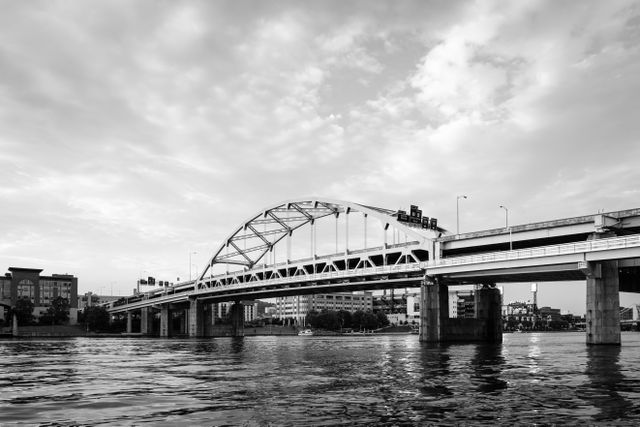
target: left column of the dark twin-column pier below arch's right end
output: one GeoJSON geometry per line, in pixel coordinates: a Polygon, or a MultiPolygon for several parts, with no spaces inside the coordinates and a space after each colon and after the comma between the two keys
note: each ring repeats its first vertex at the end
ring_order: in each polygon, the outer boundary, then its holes
{"type": "Polygon", "coordinates": [[[445,341],[445,326],[449,317],[447,285],[438,279],[425,277],[420,287],[420,341],[445,341]]]}

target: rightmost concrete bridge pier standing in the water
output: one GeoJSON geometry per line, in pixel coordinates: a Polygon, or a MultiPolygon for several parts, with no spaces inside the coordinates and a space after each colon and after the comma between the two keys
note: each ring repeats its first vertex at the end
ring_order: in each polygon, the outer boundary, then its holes
{"type": "Polygon", "coordinates": [[[589,264],[587,273],[587,344],[620,345],[618,261],[589,264]]]}

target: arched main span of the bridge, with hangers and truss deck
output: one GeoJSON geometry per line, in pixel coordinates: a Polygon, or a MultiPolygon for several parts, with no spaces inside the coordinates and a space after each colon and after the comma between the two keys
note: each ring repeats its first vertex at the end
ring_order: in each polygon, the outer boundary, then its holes
{"type": "Polygon", "coordinates": [[[422,277],[434,240],[443,234],[448,233],[442,228],[399,221],[397,210],[324,198],[287,200],[260,210],[236,227],[198,275],[194,292],[212,298],[216,294],[220,299],[236,293],[258,298],[384,288],[394,277],[408,278],[409,273],[422,277]],[[335,222],[335,249],[329,248],[326,239],[331,222],[335,222]],[[319,243],[322,223],[325,236],[319,243]],[[344,231],[339,245],[340,228],[344,231]],[[303,237],[302,246],[308,245],[307,256],[293,256],[294,235],[303,237]],[[354,241],[360,239],[362,245],[354,249],[354,241]]]}

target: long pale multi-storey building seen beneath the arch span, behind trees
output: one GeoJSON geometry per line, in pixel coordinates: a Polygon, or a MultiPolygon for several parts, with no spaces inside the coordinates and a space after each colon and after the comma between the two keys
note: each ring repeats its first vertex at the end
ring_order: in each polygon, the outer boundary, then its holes
{"type": "Polygon", "coordinates": [[[297,324],[303,325],[307,314],[314,310],[345,310],[349,312],[373,310],[373,294],[371,292],[341,292],[278,297],[275,304],[275,317],[292,319],[297,324]]]}

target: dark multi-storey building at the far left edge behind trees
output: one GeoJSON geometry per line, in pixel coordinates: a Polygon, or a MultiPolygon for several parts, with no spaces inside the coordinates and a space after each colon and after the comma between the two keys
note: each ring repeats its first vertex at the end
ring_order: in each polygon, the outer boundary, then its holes
{"type": "Polygon", "coordinates": [[[39,268],[9,267],[9,272],[0,277],[0,304],[13,307],[18,298],[29,298],[38,319],[47,312],[51,301],[61,296],[69,301],[69,323],[77,323],[78,278],[70,274],[41,276],[41,272],[39,268]]]}

